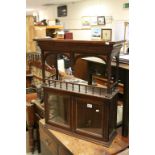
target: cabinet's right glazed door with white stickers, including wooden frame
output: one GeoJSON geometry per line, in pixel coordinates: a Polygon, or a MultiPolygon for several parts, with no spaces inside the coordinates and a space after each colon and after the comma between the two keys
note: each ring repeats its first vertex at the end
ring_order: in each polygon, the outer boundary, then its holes
{"type": "Polygon", "coordinates": [[[102,104],[87,99],[75,99],[75,132],[102,138],[102,104]]]}

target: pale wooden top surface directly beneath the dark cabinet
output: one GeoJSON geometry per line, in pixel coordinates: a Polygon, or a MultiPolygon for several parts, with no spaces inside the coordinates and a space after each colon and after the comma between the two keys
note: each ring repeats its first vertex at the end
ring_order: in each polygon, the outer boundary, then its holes
{"type": "MultiPolygon", "coordinates": [[[[41,120],[39,125],[42,130],[45,130],[44,120],[41,120]]],[[[128,147],[128,142],[124,141],[120,134],[115,137],[113,143],[107,148],[51,129],[46,129],[45,132],[54,136],[57,141],[62,143],[74,155],[112,155],[128,147]]]]}

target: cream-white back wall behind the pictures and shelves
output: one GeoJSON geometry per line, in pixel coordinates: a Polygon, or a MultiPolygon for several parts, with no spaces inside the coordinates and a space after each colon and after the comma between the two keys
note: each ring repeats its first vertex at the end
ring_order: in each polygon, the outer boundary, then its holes
{"type": "MultiPolygon", "coordinates": [[[[113,29],[113,38],[117,31],[115,25],[117,22],[129,20],[129,9],[124,9],[123,4],[128,0],[83,0],[76,3],[67,4],[67,17],[57,17],[57,5],[45,7],[39,11],[41,19],[58,18],[63,23],[65,29],[81,29],[82,16],[112,16],[111,24],[102,26],[103,28],[113,29]]],[[[118,27],[118,26],[117,26],[118,27]]],[[[117,28],[118,29],[118,28],[117,28]]],[[[90,39],[90,30],[71,30],[75,39],[90,39]]]]}

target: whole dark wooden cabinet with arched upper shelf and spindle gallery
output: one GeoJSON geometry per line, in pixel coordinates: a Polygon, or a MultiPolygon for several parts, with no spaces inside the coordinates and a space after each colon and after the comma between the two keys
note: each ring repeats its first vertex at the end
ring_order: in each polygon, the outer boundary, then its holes
{"type": "Polygon", "coordinates": [[[109,146],[116,135],[119,52],[122,41],[35,39],[41,49],[44,83],[45,121],[49,128],[109,146]],[[106,63],[106,87],[67,82],[59,78],[57,58],[67,56],[74,65],[79,58],[95,56],[106,63]],[[45,62],[52,56],[56,78],[45,78],[45,62]],[[116,75],[111,82],[111,62],[116,58],[116,75]]]}

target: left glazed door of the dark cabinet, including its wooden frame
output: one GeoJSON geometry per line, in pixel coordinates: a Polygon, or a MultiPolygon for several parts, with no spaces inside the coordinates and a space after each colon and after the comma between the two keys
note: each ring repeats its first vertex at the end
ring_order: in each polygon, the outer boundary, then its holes
{"type": "Polygon", "coordinates": [[[46,98],[46,116],[48,123],[65,129],[71,129],[71,97],[48,93],[46,98]]]}

